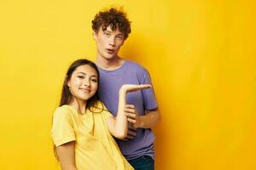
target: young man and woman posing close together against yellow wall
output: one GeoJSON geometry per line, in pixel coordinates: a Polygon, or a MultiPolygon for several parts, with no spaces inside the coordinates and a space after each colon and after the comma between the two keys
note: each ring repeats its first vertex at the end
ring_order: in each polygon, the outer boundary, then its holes
{"type": "Polygon", "coordinates": [[[63,170],[154,169],[154,89],[146,69],[118,56],[130,25],[115,8],[96,14],[96,64],[79,59],[67,71],[51,129],[63,170]]]}

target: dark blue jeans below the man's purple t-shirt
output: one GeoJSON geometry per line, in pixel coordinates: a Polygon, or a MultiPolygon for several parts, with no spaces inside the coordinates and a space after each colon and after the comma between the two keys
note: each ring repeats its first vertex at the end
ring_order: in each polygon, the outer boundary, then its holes
{"type": "Polygon", "coordinates": [[[154,170],[154,159],[150,156],[140,156],[129,163],[135,170],[154,170]]]}

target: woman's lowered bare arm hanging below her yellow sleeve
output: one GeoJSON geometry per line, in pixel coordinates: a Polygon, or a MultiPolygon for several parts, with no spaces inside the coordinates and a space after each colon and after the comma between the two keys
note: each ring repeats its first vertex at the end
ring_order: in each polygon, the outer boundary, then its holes
{"type": "Polygon", "coordinates": [[[77,170],[75,166],[75,142],[68,142],[56,147],[61,162],[61,170],[77,170]]]}

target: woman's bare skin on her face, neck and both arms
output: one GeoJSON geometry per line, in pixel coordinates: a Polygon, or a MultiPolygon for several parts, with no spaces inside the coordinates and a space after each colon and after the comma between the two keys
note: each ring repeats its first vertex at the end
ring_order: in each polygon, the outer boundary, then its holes
{"type": "MultiPolygon", "coordinates": [[[[67,86],[73,95],[73,99],[68,105],[72,106],[80,114],[85,114],[87,100],[96,94],[98,87],[97,77],[96,70],[90,65],[80,65],[73,71],[71,78],[67,81],[67,86]]],[[[126,115],[136,112],[134,105],[125,105],[126,94],[150,87],[149,84],[125,84],[120,88],[118,115],[116,117],[108,117],[106,120],[108,130],[114,137],[124,139],[127,136],[128,122],[126,115]]],[[[57,146],[56,151],[62,170],[77,169],[75,166],[75,141],[57,146]]]]}

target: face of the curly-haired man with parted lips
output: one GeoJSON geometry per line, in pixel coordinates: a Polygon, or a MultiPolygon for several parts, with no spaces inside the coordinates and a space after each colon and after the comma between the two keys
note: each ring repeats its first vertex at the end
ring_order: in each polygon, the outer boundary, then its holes
{"type": "Polygon", "coordinates": [[[104,59],[118,57],[119,48],[125,41],[124,34],[119,29],[112,31],[110,26],[105,31],[101,27],[97,33],[93,33],[93,37],[96,40],[97,57],[104,59]]]}

